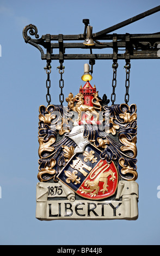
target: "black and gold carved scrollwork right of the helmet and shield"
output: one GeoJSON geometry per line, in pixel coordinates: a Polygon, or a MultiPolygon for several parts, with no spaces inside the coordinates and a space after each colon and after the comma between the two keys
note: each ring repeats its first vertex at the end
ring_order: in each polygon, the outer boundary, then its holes
{"type": "MultiPolygon", "coordinates": [[[[118,162],[120,176],[125,180],[137,179],[137,108],[127,104],[103,107],[103,120],[108,129],[101,126],[85,126],[84,136],[102,150],[101,159],[118,162]]],[[[104,126],[103,126],[104,127],[104,126]]]]}

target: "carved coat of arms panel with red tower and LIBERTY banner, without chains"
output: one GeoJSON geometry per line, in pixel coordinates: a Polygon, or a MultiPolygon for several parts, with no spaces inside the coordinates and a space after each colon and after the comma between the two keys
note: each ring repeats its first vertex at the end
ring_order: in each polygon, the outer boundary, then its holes
{"type": "Polygon", "coordinates": [[[39,220],[136,220],[136,105],[108,106],[89,81],[39,108],[39,220]]]}

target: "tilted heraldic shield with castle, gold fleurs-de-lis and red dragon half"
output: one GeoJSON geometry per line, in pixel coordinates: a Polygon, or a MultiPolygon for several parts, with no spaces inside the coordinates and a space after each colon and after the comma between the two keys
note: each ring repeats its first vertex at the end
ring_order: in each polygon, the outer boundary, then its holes
{"type": "Polygon", "coordinates": [[[76,153],[57,176],[79,196],[103,199],[116,191],[118,172],[113,162],[101,160],[101,151],[88,144],[84,153],[76,153]]]}

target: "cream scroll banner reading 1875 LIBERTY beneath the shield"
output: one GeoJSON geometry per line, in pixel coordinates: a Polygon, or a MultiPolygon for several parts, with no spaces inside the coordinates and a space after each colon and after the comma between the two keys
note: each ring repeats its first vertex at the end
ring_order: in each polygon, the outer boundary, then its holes
{"type": "Polygon", "coordinates": [[[36,218],[39,220],[137,220],[138,184],[119,181],[114,200],[76,199],[63,183],[39,182],[36,186],[36,218]]]}

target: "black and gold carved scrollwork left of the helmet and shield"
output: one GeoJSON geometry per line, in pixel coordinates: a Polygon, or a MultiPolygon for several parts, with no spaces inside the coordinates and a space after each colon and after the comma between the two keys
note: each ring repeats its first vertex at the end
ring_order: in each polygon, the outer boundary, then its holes
{"type": "Polygon", "coordinates": [[[67,109],[59,105],[40,106],[39,113],[38,179],[57,181],[57,174],[69,161],[75,148],[75,143],[64,137],[65,132],[70,131],[67,109]]]}

